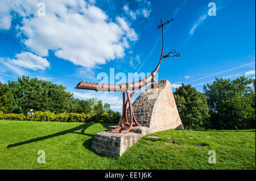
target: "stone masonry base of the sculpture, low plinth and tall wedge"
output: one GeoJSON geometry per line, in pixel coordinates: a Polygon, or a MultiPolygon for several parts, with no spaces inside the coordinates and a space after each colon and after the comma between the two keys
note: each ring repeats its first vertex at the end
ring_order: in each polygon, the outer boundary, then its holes
{"type": "MultiPolygon", "coordinates": [[[[151,86],[148,86],[151,87],[151,86]]],[[[132,127],[129,133],[100,132],[93,139],[92,149],[103,155],[120,157],[142,136],[167,129],[183,129],[177,111],[171,83],[160,81],[160,86],[147,89],[133,102],[134,116],[141,127],[132,127]]],[[[130,118],[129,108],[127,115],[130,118]]],[[[117,126],[109,127],[114,129],[117,126]]]]}

